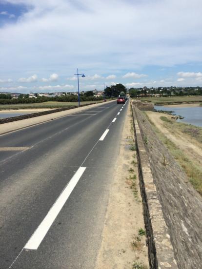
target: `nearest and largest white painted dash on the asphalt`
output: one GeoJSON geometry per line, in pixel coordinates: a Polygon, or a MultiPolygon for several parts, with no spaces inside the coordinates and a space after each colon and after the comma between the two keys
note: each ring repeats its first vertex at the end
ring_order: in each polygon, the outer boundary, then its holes
{"type": "Polygon", "coordinates": [[[66,200],[68,199],[71,192],[74,190],[75,186],[77,185],[78,181],[81,178],[81,175],[85,171],[86,167],[80,167],[74,176],[71,178],[67,186],[61,192],[60,196],[56,200],[55,204],[52,208],[48,211],[47,215],[40,223],[37,230],[32,234],[29,241],[24,246],[24,249],[28,250],[37,250],[40,246],[41,241],[43,240],[44,236],[46,235],[47,231],[50,229],[51,225],[53,224],[54,220],[56,219],[57,215],[61,211],[63,205],[65,204],[66,200]]]}

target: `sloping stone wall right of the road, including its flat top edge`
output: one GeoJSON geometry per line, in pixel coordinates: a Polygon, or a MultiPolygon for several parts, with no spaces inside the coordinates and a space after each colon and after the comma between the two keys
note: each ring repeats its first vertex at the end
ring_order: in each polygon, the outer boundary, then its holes
{"type": "Polygon", "coordinates": [[[132,110],[150,268],[202,269],[202,197],[143,113],[132,110]]]}

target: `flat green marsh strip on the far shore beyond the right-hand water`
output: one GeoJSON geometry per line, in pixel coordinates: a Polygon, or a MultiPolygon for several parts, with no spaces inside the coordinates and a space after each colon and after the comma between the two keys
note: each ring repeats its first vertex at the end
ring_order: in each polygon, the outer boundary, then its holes
{"type": "Polygon", "coordinates": [[[182,104],[202,102],[202,96],[170,96],[170,97],[141,97],[143,102],[152,102],[155,105],[182,104]]]}

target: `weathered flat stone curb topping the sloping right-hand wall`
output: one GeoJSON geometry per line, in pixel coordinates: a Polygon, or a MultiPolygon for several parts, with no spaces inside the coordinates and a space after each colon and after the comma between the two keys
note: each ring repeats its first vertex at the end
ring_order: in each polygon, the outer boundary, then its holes
{"type": "Polygon", "coordinates": [[[157,196],[148,155],[144,148],[137,115],[132,103],[131,108],[150,269],[178,269],[168,228],[163,217],[162,206],[157,196]]]}

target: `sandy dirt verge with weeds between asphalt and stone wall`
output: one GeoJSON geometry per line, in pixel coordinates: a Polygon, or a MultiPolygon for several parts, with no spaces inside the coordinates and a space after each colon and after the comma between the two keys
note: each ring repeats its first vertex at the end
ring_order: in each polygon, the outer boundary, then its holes
{"type": "Polygon", "coordinates": [[[145,236],[139,235],[144,222],[130,120],[128,109],[96,269],[149,268],[145,236]]]}

